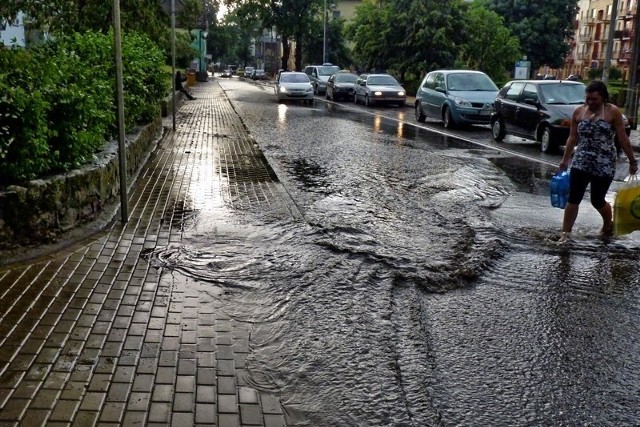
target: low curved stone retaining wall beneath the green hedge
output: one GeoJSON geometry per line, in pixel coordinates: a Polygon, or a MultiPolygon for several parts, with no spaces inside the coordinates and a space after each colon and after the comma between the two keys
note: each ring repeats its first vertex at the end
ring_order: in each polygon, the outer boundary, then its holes
{"type": "MultiPolygon", "coordinates": [[[[169,107],[170,108],[170,107],[169,107]]],[[[137,174],[162,132],[162,119],[127,135],[127,181],[137,174]]],[[[52,243],[65,231],[92,221],[106,205],[119,203],[118,142],[106,144],[80,170],[0,192],[0,250],[52,243]]]]}

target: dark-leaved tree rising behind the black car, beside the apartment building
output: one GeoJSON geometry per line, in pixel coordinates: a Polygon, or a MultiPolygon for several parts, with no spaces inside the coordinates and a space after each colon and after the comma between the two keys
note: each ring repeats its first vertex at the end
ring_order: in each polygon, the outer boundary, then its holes
{"type": "Polygon", "coordinates": [[[569,54],[578,0],[477,0],[495,11],[518,37],[533,69],[560,68],[569,54]]]}

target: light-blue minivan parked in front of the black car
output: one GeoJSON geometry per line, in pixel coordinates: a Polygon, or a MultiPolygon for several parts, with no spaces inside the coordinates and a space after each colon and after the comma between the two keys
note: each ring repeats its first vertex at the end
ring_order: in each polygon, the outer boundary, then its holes
{"type": "Polygon", "coordinates": [[[473,70],[436,70],[427,73],[416,93],[416,120],[442,120],[444,127],[489,124],[498,86],[473,70]]]}

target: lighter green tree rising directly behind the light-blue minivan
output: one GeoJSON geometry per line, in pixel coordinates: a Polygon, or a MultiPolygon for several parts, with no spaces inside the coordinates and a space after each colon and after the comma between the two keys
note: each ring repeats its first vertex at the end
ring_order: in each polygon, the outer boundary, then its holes
{"type": "Polygon", "coordinates": [[[457,63],[502,80],[521,57],[519,40],[504,26],[502,17],[476,2],[469,7],[463,28],[466,40],[457,63]]]}

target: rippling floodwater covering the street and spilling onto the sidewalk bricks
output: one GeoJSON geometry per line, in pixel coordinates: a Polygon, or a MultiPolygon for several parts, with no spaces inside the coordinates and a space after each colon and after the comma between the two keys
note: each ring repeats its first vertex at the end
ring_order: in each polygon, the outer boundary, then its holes
{"type": "Polygon", "coordinates": [[[292,425],[637,425],[636,236],[585,202],[559,246],[552,168],[221,84],[295,212],[182,224],[151,260],[251,325],[247,381],[292,425]]]}

